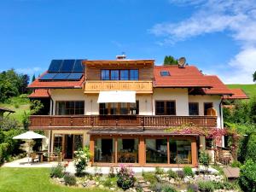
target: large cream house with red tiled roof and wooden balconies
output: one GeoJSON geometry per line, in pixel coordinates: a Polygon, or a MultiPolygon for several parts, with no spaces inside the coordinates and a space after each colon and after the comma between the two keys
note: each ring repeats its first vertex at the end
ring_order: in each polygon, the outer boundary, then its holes
{"type": "MultiPolygon", "coordinates": [[[[154,60],[53,60],[28,86],[49,112],[32,115],[30,130],[44,131],[49,152],[64,159],[89,145],[92,164],[198,165],[207,139],[166,129],[196,125],[223,129],[222,97],[232,92],[217,76],[190,65],[154,60]]],[[[223,145],[218,141],[218,145],[223,145]]]]}

